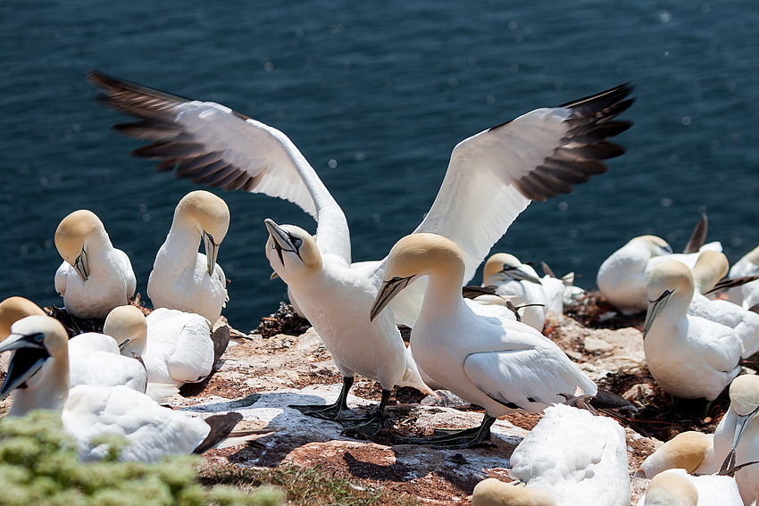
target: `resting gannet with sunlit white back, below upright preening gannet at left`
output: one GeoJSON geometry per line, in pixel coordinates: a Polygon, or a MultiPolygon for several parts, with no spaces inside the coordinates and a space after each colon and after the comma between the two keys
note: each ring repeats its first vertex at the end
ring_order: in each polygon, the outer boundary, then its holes
{"type": "Polygon", "coordinates": [[[166,308],[158,308],[147,317],[135,306],[113,311],[120,317],[117,332],[122,336],[121,354],[141,357],[147,369],[148,394],[154,398],[176,393],[179,386],[202,381],[211,374],[213,341],[207,319],[166,308]]]}

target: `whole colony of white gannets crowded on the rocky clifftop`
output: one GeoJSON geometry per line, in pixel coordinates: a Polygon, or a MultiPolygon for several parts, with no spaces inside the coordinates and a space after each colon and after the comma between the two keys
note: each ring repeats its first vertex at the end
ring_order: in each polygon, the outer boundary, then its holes
{"type": "MultiPolygon", "coordinates": [[[[576,357],[546,337],[546,317],[581,300],[583,290],[571,274],[557,278],[544,266],[540,278],[512,254],[490,250],[531,201],[571,192],[624,153],[612,139],[630,128],[618,117],[633,104],[632,87],[539,108],[463,140],[413,233],[398,237],[384,258],[356,263],[344,212],[284,133],[221,104],[98,71],[88,81],[103,104],[137,119],[115,128],[145,140],[134,153],[157,160],[157,170],[285,199],[316,221],[315,230],[276,217],[260,226],[269,233],[271,269],[329,351],[342,386],[334,402],[279,411],[366,438],[393,428],[386,408],[396,386],[432,402],[455,395],[484,411],[479,425],[396,435],[394,444],[494,452],[511,481],[481,480],[473,506],[630,504],[623,427],[635,405],[596,386],[576,357]],[[472,285],[483,262],[482,284],[472,285]],[[399,326],[411,328],[408,343],[399,326]],[[381,386],[379,404],[363,415],[348,406],[357,376],[381,386]],[[539,421],[513,452],[498,453],[488,446],[491,428],[519,411],[539,413],[539,421]]],[[[63,257],[55,289],[65,313],[100,321],[103,332],[70,336],[50,316],[60,311],[44,311],[22,294],[0,303],[0,352],[12,352],[0,388],[12,397],[6,416],[60,412],[80,460],[105,457],[103,435],[127,438],[121,460],[156,462],[286,434],[288,427],[240,428],[244,416],[235,411],[202,417],[162,405],[181,386],[213,374],[228,344],[220,317],[237,301],[229,301],[216,259],[229,220],[227,204],[205,190],[177,203],[147,280],[151,310],[135,303],[137,283],[119,238],[112,243],[88,210],[63,217],[54,231],[63,257]]],[[[759,248],[730,270],[719,243],[703,244],[703,225],[685,253],[672,253],[656,236],[632,238],[597,274],[617,314],[646,311],[645,361],[658,387],[678,399],[730,395],[714,434],[683,432],[646,458],[638,477],[647,490],[638,504],[747,506],[759,492],[759,377],[742,365],[759,351],[759,248]]]]}

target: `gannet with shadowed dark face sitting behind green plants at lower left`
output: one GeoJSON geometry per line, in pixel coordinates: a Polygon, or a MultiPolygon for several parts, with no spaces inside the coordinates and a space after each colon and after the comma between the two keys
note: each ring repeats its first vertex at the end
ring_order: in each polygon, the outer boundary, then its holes
{"type": "MultiPolygon", "coordinates": [[[[164,455],[204,452],[222,443],[242,416],[228,413],[191,419],[159,406],[145,394],[126,386],[80,385],[69,390],[69,360],[63,326],[46,316],[29,316],[13,324],[0,353],[13,350],[0,395],[13,393],[8,416],[35,409],[61,411],[63,428],[79,444],[81,460],[103,458],[106,444],[92,443],[98,435],[123,435],[129,445],[121,460],[156,462],[164,455]]],[[[243,437],[249,434],[241,435],[243,437]]]]}

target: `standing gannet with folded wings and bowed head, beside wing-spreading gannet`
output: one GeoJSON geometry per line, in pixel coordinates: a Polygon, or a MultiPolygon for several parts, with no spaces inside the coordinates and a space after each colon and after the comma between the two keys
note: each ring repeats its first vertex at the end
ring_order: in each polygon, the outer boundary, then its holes
{"type": "Polygon", "coordinates": [[[596,394],[596,384],[546,336],[518,321],[481,316],[477,304],[465,303],[465,269],[463,254],[446,237],[405,236],[390,250],[370,312],[377,317],[406,286],[429,276],[411,333],[413,358],[446,390],[487,411],[480,427],[456,435],[455,444],[482,441],[496,417],[543,411],[578,387],[596,394]]]}

